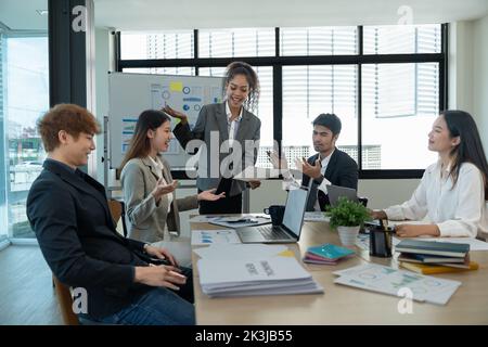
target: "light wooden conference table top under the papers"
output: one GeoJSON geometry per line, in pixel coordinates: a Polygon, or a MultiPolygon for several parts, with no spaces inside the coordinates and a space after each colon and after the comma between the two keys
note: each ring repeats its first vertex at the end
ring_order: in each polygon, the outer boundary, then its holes
{"type": "MultiPolygon", "coordinates": [[[[219,229],[208,223],[192,223],[192,230],[219,229]]],[[[333,243],[338,235],[326,222],[305,222],[298,244],[288,244],[297,259],[310,245],[333,243]]],[[[398,268],[396,257],[376,258],[356,247],[357,256],[337,266],[304,267],[323,288],[323,294],[271,295],[239,298],[209,298],[202,293],[196,261],[192,253],[195,310],[197,324],[487,324],[488,323],[488,252],[471,252],[479,264],[476,271],[436,274],[461,281],[449,303],[438,306],[413,301],[413,312],[401,314],[401,298],[334,284],[332,272],[368,261],[398,268]]]]}

